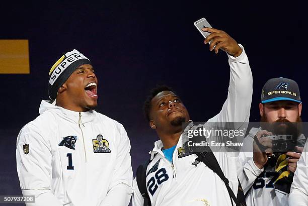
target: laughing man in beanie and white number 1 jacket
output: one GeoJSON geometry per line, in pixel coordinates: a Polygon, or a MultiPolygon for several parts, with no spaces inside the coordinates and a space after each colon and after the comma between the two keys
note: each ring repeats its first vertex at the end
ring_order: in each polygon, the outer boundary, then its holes
{"type": "Polygon", "coordinates": [[[17,172],[27,205],[128,205],[130,141],[124,127],[97,113],[98,79],[77,50],[49,72],[38,116],[17,138],[17,172]]]}

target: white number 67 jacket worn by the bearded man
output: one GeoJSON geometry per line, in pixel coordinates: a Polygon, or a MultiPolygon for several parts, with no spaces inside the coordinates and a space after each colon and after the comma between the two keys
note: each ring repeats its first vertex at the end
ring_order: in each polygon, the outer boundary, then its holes
{"type": "MultiPolygon", "coordinates": [[[[278,173],[275,171],[265,171],[264,168],[259,169],[253,160],[254,136],[259,131],[261,131],[261,128],[252,128],[250,130],[244,139],[242,147],[242,151],[245,152],[240,152],[239,155],[239,163],[241,166],[238,168],[238,176],[244,193],[247,193],[247,206],[287,206],[289,194],[274,187],[274,180],[277,179],[278,173]],[[264,173],[260,176],[262,172],[264,173]]],[[[304,142],[305,137],[301,134],[297,139],[297,144],[298,146],[302,146],[304,142]]]]}

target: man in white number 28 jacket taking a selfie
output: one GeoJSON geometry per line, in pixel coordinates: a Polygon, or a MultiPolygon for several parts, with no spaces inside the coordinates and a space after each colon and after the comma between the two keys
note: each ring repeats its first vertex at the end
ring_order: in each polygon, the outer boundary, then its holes
{"type": "MultiPolygon", "coordinates": [[[[211,28],[203,31],[211,33],[205,39],[205,43],[211,41],[210,50],[225,51],[230,65],[227,99],[220,113],[209,122],[248,122],[252,74],[244,48],[223,31],[211,28]]],[[[152,91],[144,106],[149,126],[160,138],[152,150],[144,182],[151,205],[235,205],[225,183],[205,164],[198,164],[196,154],[182,155],[181,126],[189,121],[189,114],[180,97],[172,89],[160,87],[152,91]]],[[[237,194],[237,158],[225,152],[214,155],[229,180],[228,185],[237,194]]],[[[133,189],[133,205],[143,205],[136,178],[133,189]]]]}

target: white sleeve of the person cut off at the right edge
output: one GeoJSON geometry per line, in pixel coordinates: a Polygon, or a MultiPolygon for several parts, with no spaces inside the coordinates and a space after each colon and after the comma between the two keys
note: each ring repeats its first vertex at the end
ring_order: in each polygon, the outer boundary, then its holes
{"type": "Polygon", "coordinates": [[[306,142],[294,173],[289,205],[308,205],[308,144],[306,142]]]}

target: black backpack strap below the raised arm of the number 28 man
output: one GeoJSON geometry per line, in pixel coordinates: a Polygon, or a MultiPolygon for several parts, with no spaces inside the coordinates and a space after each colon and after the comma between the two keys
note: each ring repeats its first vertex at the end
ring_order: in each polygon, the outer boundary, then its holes
{"type": "Polygon", "coordinates": [[[233,201],[232,201],[232,199],[233,199],[237,206],[246,206],[244,192],[243,192],[239,178],[238,178],[239,189],[238,189],[238,194],[237,194],[237,197],[236,197],[234,192],[230,188],[229,180],[224,176],[224,174],[223,174],[223,172],[222,172],[222,170],[221,170],[221,168],[220,168],[220,166],[217,162],[216,157],[214,156],[214,154],[212,152],[208,152],[209,150],[210,150],[210,148],[207,148],[207,152],[196,153],[196,155],[198,156],[197,160],[200,161],[200,162],[203,162],[206,166],[208,166],[208,168],[213,170],[220,177],[220,179],[224,182],[224,184],[225,184],[225,186],[228,190],[232,205],[233,205],[233,201]]]}

